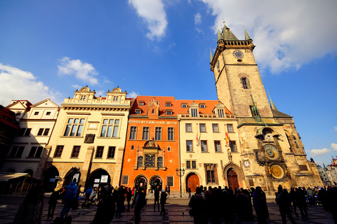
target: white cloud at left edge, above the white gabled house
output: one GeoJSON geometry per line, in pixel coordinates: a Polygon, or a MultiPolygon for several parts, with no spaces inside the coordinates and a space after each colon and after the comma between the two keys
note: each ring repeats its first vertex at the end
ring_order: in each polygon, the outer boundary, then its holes
{"type": "Polygon", "coordinates": [[[27,99],[32,104],[44,99],[62,102],[60,93],[50,90],[33,73],[0,63],[0,104],[7,106],[12,99],[27,99]]]}

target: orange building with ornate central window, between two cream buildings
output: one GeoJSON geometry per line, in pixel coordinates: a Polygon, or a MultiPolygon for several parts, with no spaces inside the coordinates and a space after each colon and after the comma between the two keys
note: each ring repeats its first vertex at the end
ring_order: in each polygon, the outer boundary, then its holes
{"type": "Polygon", "coordinates": [[[128,119],[121,185],[179,190],[178,104],[174,97],[133,99],[128,119]]]}

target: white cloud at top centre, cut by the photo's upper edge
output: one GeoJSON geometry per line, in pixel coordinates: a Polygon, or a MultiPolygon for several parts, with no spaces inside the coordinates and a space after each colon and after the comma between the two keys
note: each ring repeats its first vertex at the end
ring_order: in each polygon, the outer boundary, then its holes
{"type": "Polygon", "coordinates": [[[168,22],[162,0],[128,0],[128,3],[136,9],[138,15],[147,23],[147,28],[150,29],[150,32],[146,34],[147,38],[153,40],[154,37],[165,36],[168,22]]]}

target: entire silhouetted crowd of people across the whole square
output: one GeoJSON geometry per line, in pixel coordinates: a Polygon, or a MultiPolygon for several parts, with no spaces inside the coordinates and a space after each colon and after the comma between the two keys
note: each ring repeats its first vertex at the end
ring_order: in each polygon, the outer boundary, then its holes
{"type": "MultiPolygon", "coordinates": [[[[140,222],[140,211],[147,204],[145,199],[147,190],[144,188],[127,188],[120,186],[114,188],[109,184],[99,188],[89,187],[81,192],[81,186],[77,186],[74,179],[70,185],[56,190],[51,194],[48,200],[47,218],[53,218],[55,206],[61,199],[63,204],[60,215],[55,218],[54,223],[71,223],[71,217],[67,216],[70,209],[79,207],[81,193],[85,196],[84,204],[96,204],[97,211],[93,218],[92,224],[110,223],[113,218],[121,218],[124,212],[134,208],[135,223],[140,222]],[[132,201],[132,202],[131,202],[132,201]]],[[[157,209],[160,214],[166,216],[166,199],[169,195],[167,188],[152,189],[154,195],[154,211],[157,209]],[[161,209],[159,209],[159,204],[161,209]]],[[[194,223],[211,223],[218,224],[221,219],[226,223],[234,223],[235,219],[244,221],[253,221],[253,210],[256,212],[258,223],[267,223],[269,211],[267,207],[266,195],[260,187],[243,189],[243,188],[221,188],[220,186],[209,188],[200,186],[196,193],[191,195],[188,188],[190,202],[190,216],[193,216],[194,223]],[[236,214],[236,216],[234,216],[236,214]]],[[[279,186],[275,193],[275,202],[279,207],[282,223],[286,223],[286,217],[292,224],[296,223],[293,215],[308,219],[308,206],[322,204],[326,211],[331,211],[333,220],[337,223],[337,188],[308,188],[304,187],[291,188],[290,191],[279,186]],[[299,211],[299,212],[298,212],[299,211]]],[[[25,199],[20,204],[18,212],[13,223],[41,223],[41,216],[44,209],[44,189],[42,183],[37,184],[29,190],[25,199]]]]}

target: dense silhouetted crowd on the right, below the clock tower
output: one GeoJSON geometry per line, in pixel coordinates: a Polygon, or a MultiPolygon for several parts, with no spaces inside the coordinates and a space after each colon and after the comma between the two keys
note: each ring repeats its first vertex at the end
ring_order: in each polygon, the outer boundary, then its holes
{"type": "MultiPolygon", "coordinates": [[[[227,188],[220,186],[206,188],[197,187],[196,193],[191,196],[190,188],[187,188],[190,202],[190,216],[193,216],[194,223],[218,224],[223,218],[225,222],[234,223],[234,219],[238,218],[244,221],[253,221],[253,209],[256,211],[258,223],[267,223],[269,211],[267,207],[267,199],[263,189],[260,187],[243,189],[243,188],[227,188]],[[234,216],[237,214],[237,216],[234,216]]],[[[322,204],[326,211],[331,211],[333,221],[337,223],[337,188],[308,188],[304,187],[291,188],[290,192],[283,186],[277,188],[275,193],[275,202],[279,207],[282,217],[282,223],[286,223],[286,217],[289,218],[291,224],[296,223],[293,214],[303,219],[308,219],[308,206],[322,204]],[[298,210],[297,210],[298,209],[298,210]]]]}

